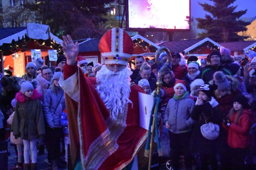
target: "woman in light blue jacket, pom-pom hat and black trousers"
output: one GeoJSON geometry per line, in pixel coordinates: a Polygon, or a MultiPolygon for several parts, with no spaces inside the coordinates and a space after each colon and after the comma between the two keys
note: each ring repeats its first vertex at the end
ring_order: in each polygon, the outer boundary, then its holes
{"type": "Polygon", "coordinates": [[[52,164],[52,169],[58,169],[56,159],[60,157],[60,139],[63,130],[60,124],[60,115],[64,108],[65,96],[63,89],[59,86],[59,78],[62,75],[61,69],[56,68],[51,81],[51,89],[47,89],[43,97],[43,113],[46,120],[45,145],[48,151],[48,161],[52,164]]]}

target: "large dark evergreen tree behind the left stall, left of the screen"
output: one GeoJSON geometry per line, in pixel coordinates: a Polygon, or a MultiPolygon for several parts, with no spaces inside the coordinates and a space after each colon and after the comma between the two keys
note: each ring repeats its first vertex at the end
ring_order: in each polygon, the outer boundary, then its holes
{"type": "Polygon", "coordinates": [[[34,11],[40,24],[50,26],[50,31],[61,38],[71,35],[74,40],[99,38],[109,28],[102,29],[108,14],[105,5],[113,0],[29,0],[24,4],[34,11]]]}

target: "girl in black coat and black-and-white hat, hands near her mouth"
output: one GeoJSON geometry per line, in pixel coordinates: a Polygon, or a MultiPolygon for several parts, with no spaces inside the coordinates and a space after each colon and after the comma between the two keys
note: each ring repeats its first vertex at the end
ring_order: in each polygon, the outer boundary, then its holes
{"type": "Polygon", "coordinates": [[[220,147],[220,139],[206,139],[201,133],[201,126],[212,122],[221,125],[222,117],[218,109],[218,102],[213,97],[216,85],[202,85],[199,89],[196,105],[191,113],[191,118],[198,123],[194,125],[190,149],[196,157],[197,169],[208,169],[208,162],[212,169],[218,169],[215,154],[220,147]],[[200,165],[201,164],[201,165],[200,165]]]}

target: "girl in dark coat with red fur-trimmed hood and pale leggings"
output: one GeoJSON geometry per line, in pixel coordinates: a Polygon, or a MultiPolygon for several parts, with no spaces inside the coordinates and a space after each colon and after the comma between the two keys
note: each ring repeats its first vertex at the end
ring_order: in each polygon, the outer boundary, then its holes
{"type": "Polygon", "coordinates": [[[21,83],[20,86],[21,91],[15,97],[17,104],[12,122],[13,135],[15,139],[23,140],[24,170],[36,170],[36,139],[45,134],[40,102],[42,96],[36,89],[33,89],[33,85],[29,81],[21,83]],[[29,150],[31,151],[31,164],[29,164],[29,150]]]}

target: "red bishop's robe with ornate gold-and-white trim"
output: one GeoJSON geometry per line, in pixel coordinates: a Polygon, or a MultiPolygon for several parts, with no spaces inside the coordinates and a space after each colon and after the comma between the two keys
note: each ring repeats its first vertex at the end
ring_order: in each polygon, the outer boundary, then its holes
{"type": "Polygon", "coordinates": [[[77,65],[64,66],[60,85],[65,91],[72,165],[80,157],[83,169],[123,169],[142,148],[147,130],[139,126],[138,85],[130,86],[123,114],[110,116],[95,89],[96,79],[84,77],[77,65]]]}

